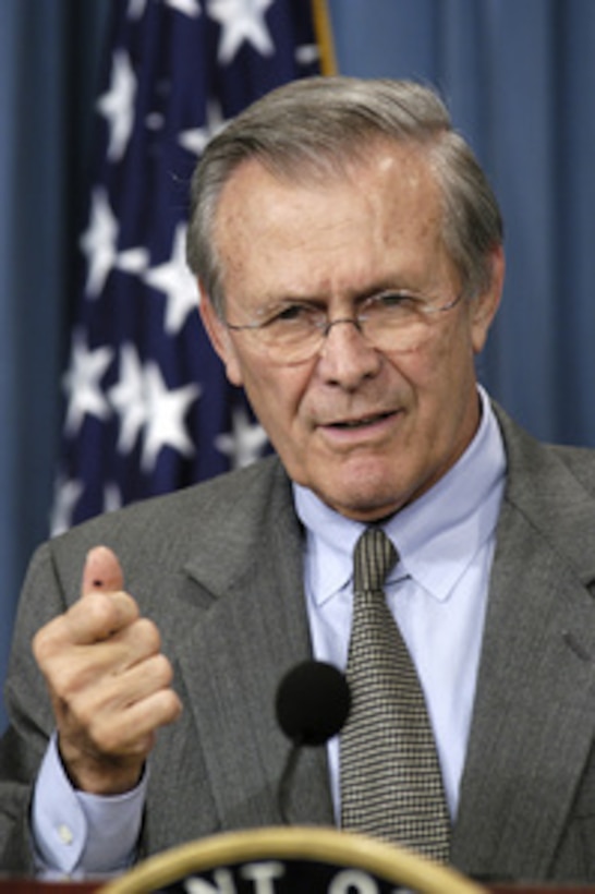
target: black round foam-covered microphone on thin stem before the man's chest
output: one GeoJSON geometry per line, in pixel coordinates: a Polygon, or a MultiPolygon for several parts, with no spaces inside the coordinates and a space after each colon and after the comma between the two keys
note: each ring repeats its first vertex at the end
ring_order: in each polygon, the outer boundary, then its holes
{"type": "Polygon", "coordinates": [[[348,718],[351,693],[343,674],[332,664],[305,661],[289,670],[277,690],[279,726],[291,740],[278,789],[281,819],[287,814],[290,784],[304,746],[324,745],[336,736],[348,718]]]}

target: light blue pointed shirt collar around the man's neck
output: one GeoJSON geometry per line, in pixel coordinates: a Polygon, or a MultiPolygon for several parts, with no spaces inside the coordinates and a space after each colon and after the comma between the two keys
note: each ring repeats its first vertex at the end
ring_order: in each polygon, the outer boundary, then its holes
{"type": "MultiPolygon", "coordinates": [[[[494,533],[506,454],[489,399],[483,388],[478,392],[481,423],[465,452],[434,487],[382,525],[400,555],[389,584],[410,576],[445,600],[494,533]]],[[[306,487],[294,484],[293,491],[307,532],[306,585],[321,603],[350,583],[353,549],[365,525],[333,511],[306,487]]]]}

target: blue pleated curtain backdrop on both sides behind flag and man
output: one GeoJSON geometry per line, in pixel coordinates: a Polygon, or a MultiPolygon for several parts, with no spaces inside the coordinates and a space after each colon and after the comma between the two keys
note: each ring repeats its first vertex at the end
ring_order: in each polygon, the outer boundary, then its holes
{"type": "MultiPolygon", "coordinates": [[[[438,86],[499,195],[508,277],[481,379],[533,434],[595,447],[595,2],[329,8],[339,70],[438,86]]],[[[48,532],[108,11],[0,2],[0,679],[26,560],[48,532]]]]}

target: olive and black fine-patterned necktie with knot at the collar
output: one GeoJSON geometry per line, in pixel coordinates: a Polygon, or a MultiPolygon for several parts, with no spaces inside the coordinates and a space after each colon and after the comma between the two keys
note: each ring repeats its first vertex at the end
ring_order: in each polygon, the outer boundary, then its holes
{"type": "Polygon", "coordinates": [[[386,602],[398,553],[379,528],[354,551],[347,678],[352,708],[341,734],[341,824],[449,858],[450,818],[417,673],[386,602]]]}

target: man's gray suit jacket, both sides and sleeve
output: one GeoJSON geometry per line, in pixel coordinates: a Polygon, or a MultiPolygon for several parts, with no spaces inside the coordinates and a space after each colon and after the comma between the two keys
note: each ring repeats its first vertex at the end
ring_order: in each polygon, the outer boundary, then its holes
{"type": "MultiPolygon", "coordinates": [[[[537,444],[501,411],[497,532],[453,862],[488,879],[595,882],[595,451],[537,444]]],[[[94,520],[32,561],[0,746],[0,867],[27,869],[32,780],[52,729],[29,641],[78,596],[86,551],[120,556],[160,627],[184,713],[158,736],[143,851],[279,823],[289,745],[280,677],[311,655],[302,531],[276,458],[94,520]]],[[[330,824],[325,749],[293,785],[294,823],[330,824]]]]}

